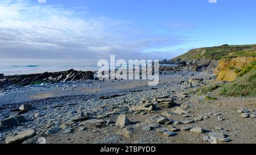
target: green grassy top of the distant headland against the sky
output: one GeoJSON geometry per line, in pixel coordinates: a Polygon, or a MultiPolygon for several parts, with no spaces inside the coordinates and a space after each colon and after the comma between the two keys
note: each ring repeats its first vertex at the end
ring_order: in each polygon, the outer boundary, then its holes
{"type": "Polygon", "coordinates": [[[256,56],[256,44],[254,45],[221,45],[218,47],[197,48],[188,51],[174,60],[210,59],[219,60],[224,57],[256,56]]]}

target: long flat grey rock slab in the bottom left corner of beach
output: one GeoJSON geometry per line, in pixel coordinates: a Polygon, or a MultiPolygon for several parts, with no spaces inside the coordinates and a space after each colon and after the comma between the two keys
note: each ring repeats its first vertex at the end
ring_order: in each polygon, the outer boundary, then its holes
{"type": "Polygon", "coordinates": [[[19,144],[23,141],[30,139],[36,135],[36,131],[34,129],[30,129],[27,131],[19,132],[16,136],[8,136],[5,139],[6,144],[19,144]]]}

